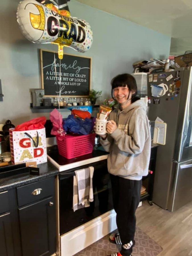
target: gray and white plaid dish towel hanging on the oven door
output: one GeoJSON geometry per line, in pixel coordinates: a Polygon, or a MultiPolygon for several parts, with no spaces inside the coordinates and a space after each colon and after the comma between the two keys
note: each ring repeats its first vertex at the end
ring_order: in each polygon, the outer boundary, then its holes
{"type": "Polygon", "coordinates": [[[90,206],[93,202],[93,172],[94,167],[75,171],[73,176],[73,211],[90,206]]]}

